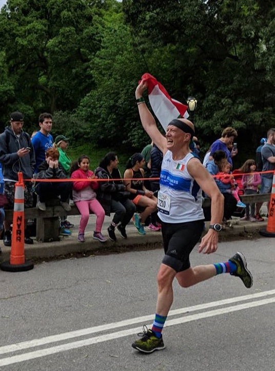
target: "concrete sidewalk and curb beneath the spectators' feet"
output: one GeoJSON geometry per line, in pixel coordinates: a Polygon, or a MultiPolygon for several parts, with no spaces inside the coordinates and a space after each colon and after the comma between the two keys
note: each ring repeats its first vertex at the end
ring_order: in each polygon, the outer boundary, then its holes
{"type": "MultiPolygon", "coordinates": [[[[86,228],[85,242],[81,243],[77,241],[78,225],[80,216],[68,217],[71,223],[74,224],[72,228],[72,235],[63,237],[61,236],[60,241],[53,242],[37,242],[34,240],[33,245],[25,244],[25,257],[26,259],[43,260],[43,259],[54,259],[54,258],[68,258],[70,256],[77,256],[81,254],[83,256],[91,254],[107,254],[117,253],[123,251],[130,251],[131,249],[152,249],[161,248],[162,246],[162,234],[161,232],[150,231],[145,227],[146,235],[140,235],[130,222],[127,225],[126,232],[128,238],[125,240],[119,234],[117,229],[115,230],[117,241],[112,242],[100,242],[92,238],[93,228],[95,222],[95,216],[90,215],[90,220],[86,228]]],[[[239,218],[233,218],[231,220],[231,227],[226,227],[219,234],[220,241],[226,240],[240,240],[244,238],[260,238],[260,229],[266,229],[267,218],[264,218],[264,222],[249,222],[241,221],[239,218]]],[[[111,221],[110,217],[106,217],[102,228],[102,233],[105,237],[108,237],[107,227],[111,221]]],[[[208,231],[209,222],[206,222],[206,232],[208,231]]],[[[261,237],[263,238],[263,237],[261,237]]],[[[1,244],[2,254],[0,254],[0,261],[9,261],[10,248],[1,244]]]]}

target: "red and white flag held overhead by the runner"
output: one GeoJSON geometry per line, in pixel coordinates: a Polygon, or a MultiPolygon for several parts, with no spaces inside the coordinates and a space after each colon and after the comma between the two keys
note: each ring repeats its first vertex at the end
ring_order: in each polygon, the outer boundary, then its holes
{"type": "Polygon", "coordinates": [[[152,75],[144,74],[142,80],[147,82],[149,102],[165,131],[174,118],[188,118],[187,105],[171,98],[165,87],[152,75]]]}

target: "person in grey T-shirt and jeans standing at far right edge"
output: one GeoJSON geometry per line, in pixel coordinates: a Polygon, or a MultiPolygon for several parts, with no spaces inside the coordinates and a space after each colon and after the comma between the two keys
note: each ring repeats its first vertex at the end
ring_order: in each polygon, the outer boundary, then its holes
{"type": "MultiPolygon", "coordinates": [[[[263,160],[263,174],[260,193],[271,193],[273,172],[275,170],[275,128],[267,132],[267,142],[261,149],[263,160]],[[264,171],[271,171],[264,173],[264,171]]],[[[269,209],[269,202],[267,203],[269,209]]]]}

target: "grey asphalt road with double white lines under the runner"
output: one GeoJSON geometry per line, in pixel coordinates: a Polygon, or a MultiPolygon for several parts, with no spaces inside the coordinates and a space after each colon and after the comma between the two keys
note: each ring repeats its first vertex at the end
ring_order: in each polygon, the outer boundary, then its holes
{"type": "Polygon", "coordinates": [[[0,369],[272,371],[275,369],[274,239],[222,242],[192,265],[242,251],[253,273],[246,289],[223,274],[189,289],[174,285],[166,349],[131,348],[155,311],[162,250],[91,256],[0,271],[0,369]]]}

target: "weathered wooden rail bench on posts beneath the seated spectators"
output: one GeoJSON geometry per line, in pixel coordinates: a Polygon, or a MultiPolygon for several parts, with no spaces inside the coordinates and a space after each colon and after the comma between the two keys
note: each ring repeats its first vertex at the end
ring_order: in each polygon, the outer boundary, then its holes
{"type": "MultiPolygon", "coordinates": [[[[241,196],[244,203],[267,202],[270,200],[270,193],[260,195],[241,196]]],[[[211,200],[205,198],[203,207],[210,206],[211,200]]],[[[13,210],[5,209],[6,219],[12,220],[13,210]]],[[[40,242],[59,241],[60,240],[60,217],[65,215],[80,215],[77,207],[71,205],[70,211],[65,211],[58,200],[54,200],[53,205],[47,205],[46,211],[37,208],[25,208],[26,219],[36,219],[36,240],[40,242]]]]}

